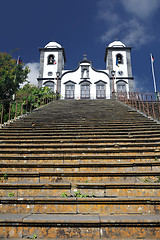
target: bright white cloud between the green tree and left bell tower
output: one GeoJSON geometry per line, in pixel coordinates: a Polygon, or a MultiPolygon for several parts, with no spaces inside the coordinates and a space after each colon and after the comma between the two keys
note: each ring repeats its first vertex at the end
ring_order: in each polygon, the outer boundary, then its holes
{"type": "Polygon", "coordinates": [[[39,63],[37,63],[37,62],[27,63],[26,65],[30,69],[30,73],[28,74],[27,80],[29,81],[30,84],[34,84],[34,85],[38,86],[37,77],[39,75],[39,63]]]}

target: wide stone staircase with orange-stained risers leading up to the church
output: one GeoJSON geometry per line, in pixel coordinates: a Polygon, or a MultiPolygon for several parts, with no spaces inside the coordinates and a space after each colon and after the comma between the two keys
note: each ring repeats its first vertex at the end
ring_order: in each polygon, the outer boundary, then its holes
{"type": "Polygon", "coordinates": [[[60,100],[0,129],[0,239],[160,239],[160,125],[60,100]]]}

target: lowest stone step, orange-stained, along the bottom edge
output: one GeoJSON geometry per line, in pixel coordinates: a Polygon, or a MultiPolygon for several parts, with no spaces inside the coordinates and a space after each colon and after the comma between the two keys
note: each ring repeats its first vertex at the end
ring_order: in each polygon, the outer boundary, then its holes
{"type": "Polygon", "coordinates": [[[0,238],[159,239],[157,215],[1,214],[0,238]]]}

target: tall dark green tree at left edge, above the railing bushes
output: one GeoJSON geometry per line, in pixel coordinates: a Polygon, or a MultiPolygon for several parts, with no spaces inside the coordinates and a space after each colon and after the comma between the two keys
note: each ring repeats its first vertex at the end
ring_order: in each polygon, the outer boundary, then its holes
{"type": "Polygon", "coordinates": [[[0,99],[11,98],[26,81],[29,68],[17,64],[10,54],[0,52],[0,99]]]}

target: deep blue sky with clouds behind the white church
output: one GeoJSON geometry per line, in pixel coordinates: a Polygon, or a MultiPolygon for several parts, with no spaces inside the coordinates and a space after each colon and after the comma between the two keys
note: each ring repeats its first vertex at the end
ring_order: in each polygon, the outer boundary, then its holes
{"type": "Polygon", "coordinates": [[[36,83],[39,48],[57,41],[65,48],[66,69],[75,69],[86,53],[96,69],[105,69],[105,47],[115,39],[132,46],[135,88],[153,92],[150,53],[160,90],[159,0],[1,0],[0,51],[21,56],[36,83]]]}

